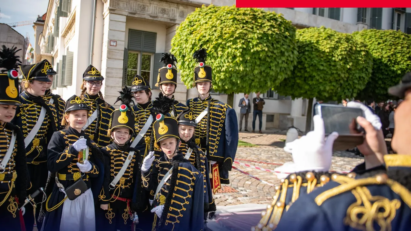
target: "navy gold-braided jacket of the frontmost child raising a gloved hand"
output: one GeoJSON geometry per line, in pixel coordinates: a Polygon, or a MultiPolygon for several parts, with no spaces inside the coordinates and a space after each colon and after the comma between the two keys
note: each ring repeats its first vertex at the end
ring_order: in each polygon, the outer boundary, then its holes
{"type": "Polygon", "coordinates": [[[155,195],[152,207],[164,205],[161,218],[155,215],[155,230],[202,231],[204,224],[203,174],[178,153],[172,159],[163,156],[143,174],[148,190],[156,190],[164,175],[173,167],[171,177],[155,195]]]}

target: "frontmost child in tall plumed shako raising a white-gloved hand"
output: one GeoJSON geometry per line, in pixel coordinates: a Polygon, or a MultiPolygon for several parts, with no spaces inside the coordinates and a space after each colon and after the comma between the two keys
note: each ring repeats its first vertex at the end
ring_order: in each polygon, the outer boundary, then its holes
{"type": "Polygon", "coordinates": [[[144,158],[141,172],[144,186],[154,190],[152,230],[203,230],[203,174],[178,151],[181,143],[178,122],[171,116],[166,96],[156,98],[153,111],[155,145],[162,150],[155,160],[154,151],[144,158]],[[164,181],[162,181],[164,178],[164,181]]]}

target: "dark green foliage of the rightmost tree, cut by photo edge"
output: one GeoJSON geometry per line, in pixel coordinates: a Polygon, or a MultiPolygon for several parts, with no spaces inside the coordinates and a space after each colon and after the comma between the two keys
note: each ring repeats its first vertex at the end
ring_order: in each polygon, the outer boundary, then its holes
{"type": "Polygon", "coordinates": [[[353,36],[368,45],[373,57],[372,77],[360,92],[362,100],[387,100],[387,89],[411,71],[411,35],[395,30],[362,30],[353,36]]]}

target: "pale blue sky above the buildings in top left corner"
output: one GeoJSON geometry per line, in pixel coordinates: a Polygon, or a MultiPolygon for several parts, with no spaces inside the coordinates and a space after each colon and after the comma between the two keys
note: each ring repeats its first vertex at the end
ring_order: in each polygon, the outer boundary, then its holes
{"type": "MultiPolygon", "coordinates": [[[[48,0],[0,0],[0,23],[16,23],[36,20],[37,15],[47,11],[48,0]]],[[[34,40],[33,24],[14,27],[14,30],[26,37],[29,34],[30,43],[34,40]]]]}

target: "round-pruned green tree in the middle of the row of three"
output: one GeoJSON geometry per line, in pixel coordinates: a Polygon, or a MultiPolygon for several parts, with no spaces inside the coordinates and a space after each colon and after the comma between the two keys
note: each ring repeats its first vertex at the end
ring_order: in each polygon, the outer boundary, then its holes
{"type": "Polygon", "coordinates": [[[372,70],[365,43],[325,27],[297,30],[298,61],[291,77],[275,90],[282,95],[308,98],[306,131],[311,128],[313,98],[341,101],[364,89],[372,70]]]}

